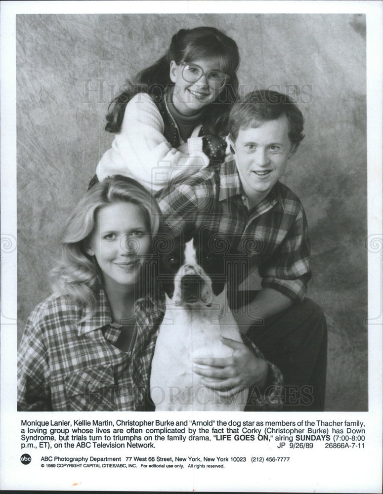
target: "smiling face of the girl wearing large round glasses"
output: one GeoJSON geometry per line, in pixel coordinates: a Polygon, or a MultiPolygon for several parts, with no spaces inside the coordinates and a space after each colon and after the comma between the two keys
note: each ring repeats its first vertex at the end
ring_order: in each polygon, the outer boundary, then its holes
{"type": "Polygon", "coordinates": [[[174,82],[173,105],[182,115],[194,115],[202,108],[212,103],[222,91],[210,87],[206,73],[211,70],[221,71],[220,64],[215,59],[193,60],[193,64],[199,65],[205,75],[197,82],[186,82],[182,77],[184,65],[170,62],[170,80],[174,82]]]}

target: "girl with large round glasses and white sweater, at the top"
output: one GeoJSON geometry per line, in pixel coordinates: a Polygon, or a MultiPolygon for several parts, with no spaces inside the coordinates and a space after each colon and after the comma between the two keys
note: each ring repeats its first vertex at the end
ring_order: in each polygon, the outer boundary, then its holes
{"type": "Polygon", "coordinates": [[[122,174],[151,192],[170,179],[224,159],[230,108],[238,89],[238,47],[218,29],[181,29],[166,54],[127,82],[110,103],[115,134],[95,179],[122,174]]]}

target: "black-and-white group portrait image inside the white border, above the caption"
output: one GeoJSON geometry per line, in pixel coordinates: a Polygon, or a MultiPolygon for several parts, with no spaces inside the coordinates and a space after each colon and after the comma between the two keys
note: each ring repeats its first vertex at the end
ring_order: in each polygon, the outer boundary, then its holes
{"type": "Polygon", "coordinates": [[[159,330],[156,389],[190,388],[192,355],[227,358],[201,362],[209,389],[283,377],[288,410],[368,410],[365,16],[20,15],[16,38],[20,409],[143,410],[159,330]],[[130,180],[104,182],[115,175],[130,180]],[[137,293],[135,254],[149,255],[156,233],[160,274],[183,284],[173,297],[168,280],[176,327],[161,327],[164,284],[137,293]],[[196,263],[184,255],[193,235],[206,250],[196,263]],[[203,334],[223,317],[198,279],[209,248],[206,276],[229,275],[235,250],[238,276],[255,271],[242,298],[259,291],[236,318],[254,351],[221,343],[222,329],[203,334]],[[149,325],[136,320],[137,297],[149,325]]]}

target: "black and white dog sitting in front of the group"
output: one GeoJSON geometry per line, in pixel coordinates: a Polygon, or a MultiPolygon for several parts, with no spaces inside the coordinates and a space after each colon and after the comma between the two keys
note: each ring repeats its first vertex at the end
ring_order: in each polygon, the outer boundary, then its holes
{"type": "Polygon", "coordinates": [[[156,411],[245,408],[247,389],[234,397],[222,397],[201,384],[202,376],[193,372],[196,357],[233,355],[220,335],[242,341],[228,306],[224,255],[221,248],[212,248],[215,241],[198,236],[184,244],[174,242],[174,248],[161,256],[166,312],[150,376],[156,411]]]}

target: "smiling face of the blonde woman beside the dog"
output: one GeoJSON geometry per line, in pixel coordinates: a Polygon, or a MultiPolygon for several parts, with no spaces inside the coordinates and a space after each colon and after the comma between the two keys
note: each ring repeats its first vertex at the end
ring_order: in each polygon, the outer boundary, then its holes
{"type": "Polygon", "coordinates": [[[97,212],[86,247],[100,266],[105,289],[132,288],[141,271],[142,258],[151,248],[145,212],[131,203],[114,203],[97,212]]]}

